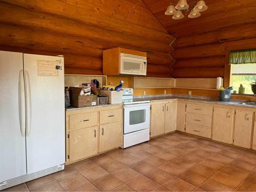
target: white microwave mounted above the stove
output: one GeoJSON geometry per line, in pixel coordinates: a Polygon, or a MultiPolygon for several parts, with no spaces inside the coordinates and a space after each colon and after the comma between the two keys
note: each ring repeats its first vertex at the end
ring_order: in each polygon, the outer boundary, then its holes
{"type": "Polygon", "coordinates": [[[146,57],[120,53],[119,74],[146,75],[146,57]]]}

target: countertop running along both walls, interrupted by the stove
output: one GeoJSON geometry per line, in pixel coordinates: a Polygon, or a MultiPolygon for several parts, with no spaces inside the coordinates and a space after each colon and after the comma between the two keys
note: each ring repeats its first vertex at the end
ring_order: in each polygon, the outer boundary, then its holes
{"type": "MultiPolygon", "coordinates": [[[[133,101],[150,101],[150,102],[157,102],[157,101],[166,101],[166,100],[183,100],[183,101],[200,101],[203,103],[212,103],[212,104],[220,104],[220,105],[231,105],[231,106],[243,106],[246,108],[254,108],[256,109],[256,105],[250,104],[242,104],[242,101],[219,101],[214,99],[206,99],[206,98],[189,98],[189,97],[180,97],[180,96],[159,96],[159,97],[141,97],[141,98],[134,98],[133,101]]],[[[99,106],[86,106],[83,108],[75,108],[69,107],[66,108],[66,111],[74,111],[74,110],[81,110],[81,109],[90,109],[90,108],[101,108],[105,106],[113,106],[113,105],[120,105],[118,104],[107,104],[107,105],[99,105],[99,106]]]]}

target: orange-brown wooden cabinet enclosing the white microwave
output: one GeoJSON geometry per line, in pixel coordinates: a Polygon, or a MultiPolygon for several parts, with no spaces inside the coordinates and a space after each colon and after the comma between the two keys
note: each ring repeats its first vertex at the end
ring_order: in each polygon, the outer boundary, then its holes
{"type": "Polygon", "coordinates": [[[103,51],[103,75],[120,74],[120,54],[129,54],[146,57],[146,52],[124,48],[113,48],[103,51]]]}

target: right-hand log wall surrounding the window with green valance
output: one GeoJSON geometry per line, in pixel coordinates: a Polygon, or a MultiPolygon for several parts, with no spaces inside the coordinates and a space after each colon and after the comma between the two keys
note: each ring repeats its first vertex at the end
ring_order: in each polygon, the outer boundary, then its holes
{"type": "Polygon", "coordinates": [[[176,38],[170,53],[176,60],[172,77],[224,77],[229,51],[256,48],[255,30],[252,23],[176,38]]]}

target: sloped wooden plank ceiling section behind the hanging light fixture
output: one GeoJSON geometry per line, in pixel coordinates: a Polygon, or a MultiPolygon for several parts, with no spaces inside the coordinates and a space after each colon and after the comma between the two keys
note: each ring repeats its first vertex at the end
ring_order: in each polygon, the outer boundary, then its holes
{"type": "Polygon", "coordinates": [[[172,19],[164,12],[170,2],[178,0],[142,0],[163,27],[176,37],[216,31],[222,28],[256,22],[255,0],[205,0],[208,10],[198,18],[172,19]]]}

